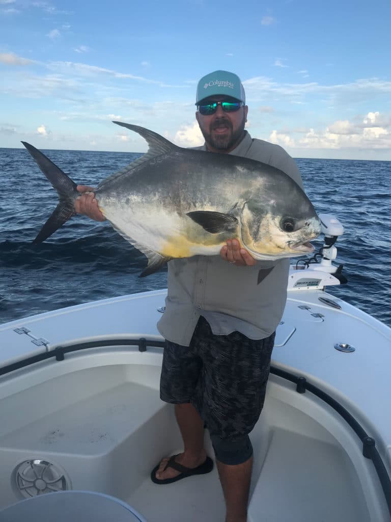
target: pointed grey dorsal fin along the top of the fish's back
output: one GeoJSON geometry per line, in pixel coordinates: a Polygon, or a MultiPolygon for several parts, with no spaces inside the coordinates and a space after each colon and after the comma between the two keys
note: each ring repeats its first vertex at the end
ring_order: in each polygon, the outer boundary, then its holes
{"type": "Polygon", "coordinates": [[[145,161],[149,161],[152,158],[155,158],[157,156],[161,156],[162,154],[169,154],[175,149],[180,149],[180,147],[177,147],[171,141],[168,141],[168,139],[163,138],[163,136],[160,136],[159,134],[156,134],[155,132],[149,131],[149,129],[146,129],[144,127],[139,127],[138,125],[131,125],[130,123],[124,123],[124,122],[113,122],[117,125],[120,125],[121,127],[126,127],[130,129],[130,131],[137,132],[142,136],[146,143],[148,143],[148,151],[141,156],[140,158],[137,158],[135,161],[132,161],[126,167],[119,170],[118,172],[115,172],[114,174],[106,177],[99,185],[99,188],[102,188],[107,182],[112,182],[113,180],[117,179],[118,177],[123,176],[124,174],[128,174],[136,169],[139,165],[144,163],[145,161]]]}

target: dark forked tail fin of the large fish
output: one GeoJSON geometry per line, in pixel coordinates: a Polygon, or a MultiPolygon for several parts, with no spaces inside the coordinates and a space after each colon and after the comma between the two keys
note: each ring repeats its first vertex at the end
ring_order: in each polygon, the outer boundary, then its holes
{"type": "Polygon", "coordinates": [[[30,152],[38,167],[56,189],[59,202],[50,218],[46,221],[33,243],[42,243],[50,235],[59,229],[68,219],[75,216],[75,199],[79,194],[77,185],[69,176],[57,167],[50,159],[32,145],[22,141],[22,144],[30,152]]]}

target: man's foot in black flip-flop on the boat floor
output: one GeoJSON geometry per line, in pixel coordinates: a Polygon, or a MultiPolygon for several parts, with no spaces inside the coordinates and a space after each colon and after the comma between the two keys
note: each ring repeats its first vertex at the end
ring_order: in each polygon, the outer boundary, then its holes
{"type": "Polygon", "coordinates": [[[198,456],[179,453],[161,460],[157,469],[152,471],[151,478],[156,483],[175,482],[192,474],[209,473],[213,469],[213,461],[207,457],[205,450],[198,456]],[[155,479],[155,480],[154,480],[155,479]]]}

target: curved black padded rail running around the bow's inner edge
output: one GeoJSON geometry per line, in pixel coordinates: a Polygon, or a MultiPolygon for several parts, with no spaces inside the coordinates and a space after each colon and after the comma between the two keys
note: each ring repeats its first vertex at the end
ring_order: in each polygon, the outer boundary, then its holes
{"type": "MultiPolygon", "coordinates": [[[[74,345],[68,345],[65,347],[59,346],[54,350],[43,352],[38,355],[33,355],[32,357],[28,357],[26,359],[22,359],[21,361],[3,366],[0,368],[0,376],[14,372],[15,370],[20,370],[21,368],[36,362],[44,361],[46,359],[55,358],[57,361],[63,361],[65,359],[66,353],[85,350],[88,348],[101,348],[107,346],[137,346],[140,352],[145,352],[147,345],[153,348],[164,348],[164,341],[147,340],[142,337],[140,339],[105,339],[100,341],[75,343],[74,345]]],[[[308,390],[308,392],[316,395],[316,397],[319,397],[321,400],[326,402],[326,404],[337,411],[339,415],[349,424],[350,428],[361,440],[363,456],[372,460],[373,462],[387,502],[388,511],[391,515],[391,479],[388,475],[382,457],[377,451],[376,441],[374,438],[370,437],[368,433],[365,432],[359,422],[348,412],[347,409],[340,405],[338,401],[323,392],[323,390],[320,388],[317,388],[315,385],[307,382],[305,377],[297,376],[285,370],[279,370],[274,366],[271,366],[270,373],[296,384],[296,391],[300,394],[306,393],[308,390]]]]}

